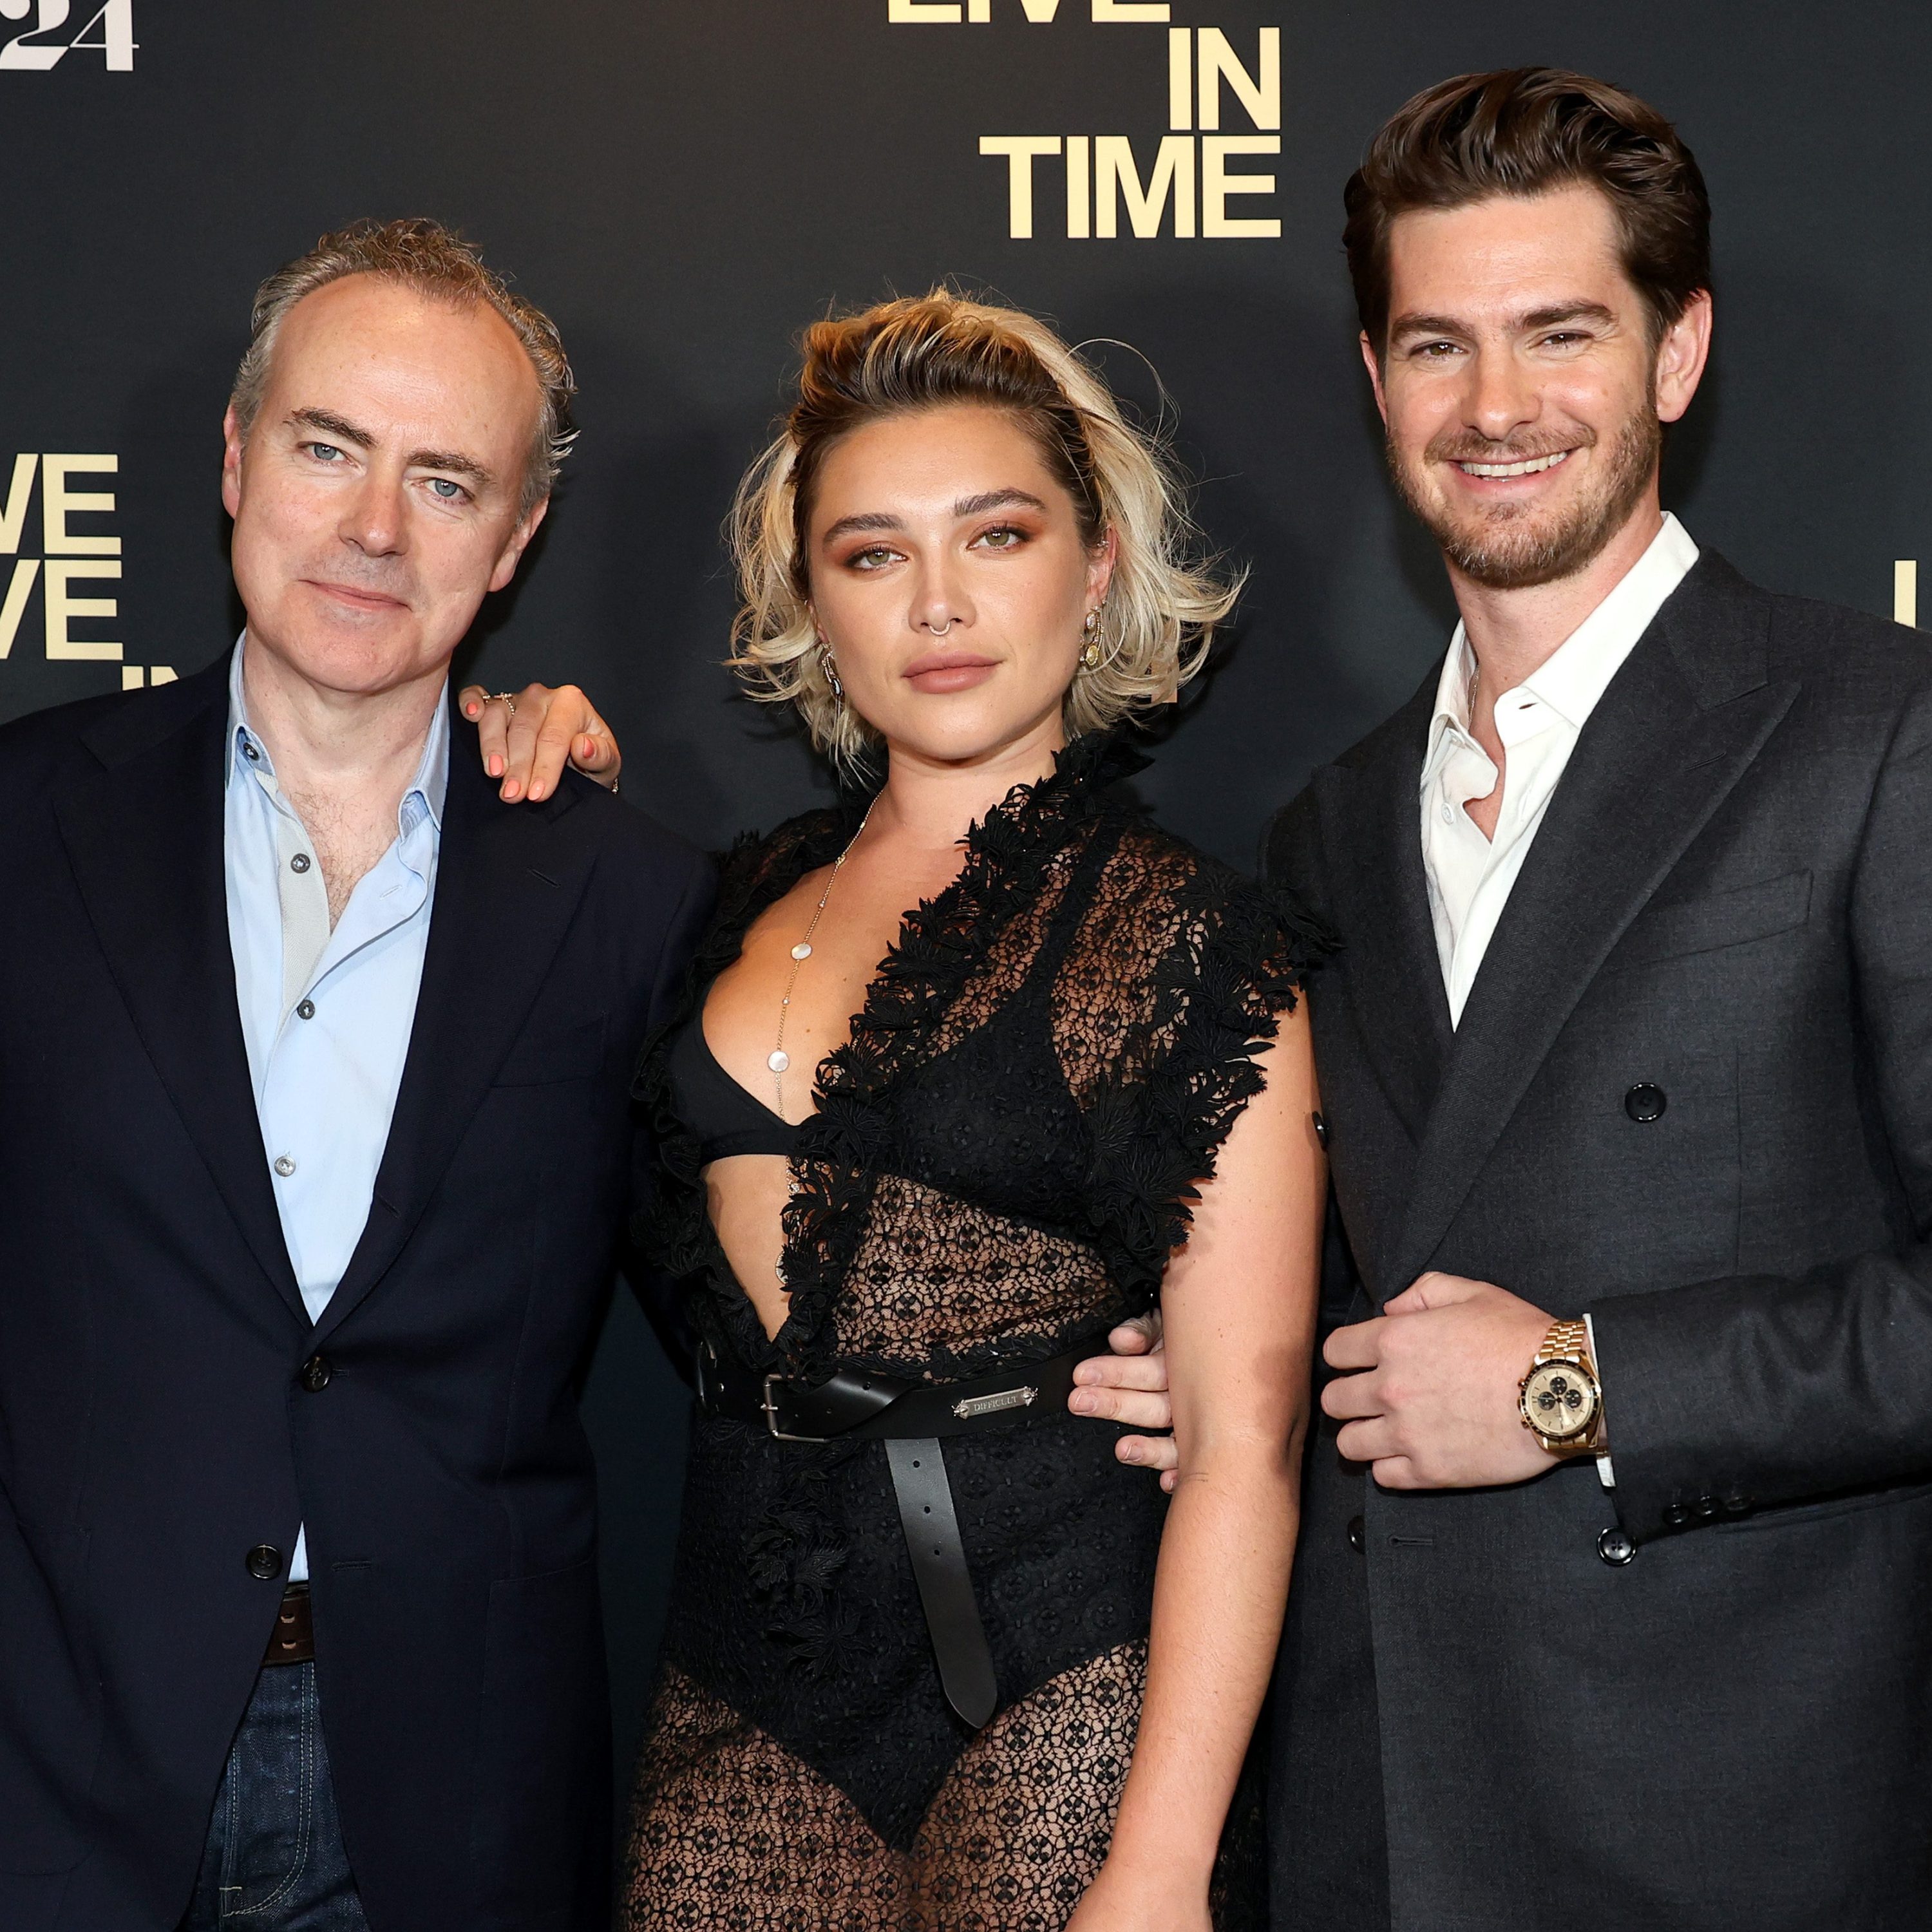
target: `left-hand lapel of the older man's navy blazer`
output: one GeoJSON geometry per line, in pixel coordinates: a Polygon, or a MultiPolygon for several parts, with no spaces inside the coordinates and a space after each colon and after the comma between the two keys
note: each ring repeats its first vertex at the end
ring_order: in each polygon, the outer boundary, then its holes
{"type": "Polygon", "coordinates": [[[228,657],[85,734],[54,802],[68,862],[160,1082],[263,1275],[307,1325],[261,1146],[228,943],[228,657]]]}

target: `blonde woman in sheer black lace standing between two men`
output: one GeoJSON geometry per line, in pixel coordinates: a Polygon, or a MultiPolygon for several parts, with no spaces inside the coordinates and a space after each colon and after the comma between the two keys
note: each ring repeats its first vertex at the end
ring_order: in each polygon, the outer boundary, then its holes
{"type": "Polygon", "coordinates": [[[806,334],[736,668],[848,802],[738,846],[647,1055],[703,1337],[628,1924],[1202,1932],[1294,1544],[1316,939],[1115,726],[1231,589],[1032,317],[806,334]],[[1180,1480],[1066,1416],[1159,1304],[1180,1480]]]}

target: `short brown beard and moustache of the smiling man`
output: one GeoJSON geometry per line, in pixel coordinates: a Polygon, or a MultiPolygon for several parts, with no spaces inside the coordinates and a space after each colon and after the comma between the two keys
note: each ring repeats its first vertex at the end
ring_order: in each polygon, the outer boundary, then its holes
{"type": "Polygon", "coordinates": [[[1385,442],[1397,493],[1441,545],[1443,556],[1463,576],[1497,591],[1555,583],[1594,562],[1650,489],[1663,452],[1663,425],[1654,410],[1627,417],[1611,437],[1609,460],[1596,483],[1559,510],[1505,502],[1470,518],[1455,518],[1439,498],[1428,495],[1424,485],[1428,464],[1520,464],[1577,446],[1596,448],[1596,433],[1586,431],[1580,444],[1575,437],[1557,444],[1544,439],[1544,446],[1538,448],[1530,437],[1520,442],[1515,439],[1486,442],[1466,431],[1453,431],[1430,442],[1422,464],[1410,469],[1395,439],[1389,437],[1385,442]]]}

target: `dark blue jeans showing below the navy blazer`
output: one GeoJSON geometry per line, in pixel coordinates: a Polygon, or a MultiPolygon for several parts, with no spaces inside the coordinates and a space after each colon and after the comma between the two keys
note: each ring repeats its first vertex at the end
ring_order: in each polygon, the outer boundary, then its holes
{"type": "Polygon", "coordinates": [[[323,1745],[313,1663],[255,1681],[180,1932],[367,1932],[323,1745]]]}

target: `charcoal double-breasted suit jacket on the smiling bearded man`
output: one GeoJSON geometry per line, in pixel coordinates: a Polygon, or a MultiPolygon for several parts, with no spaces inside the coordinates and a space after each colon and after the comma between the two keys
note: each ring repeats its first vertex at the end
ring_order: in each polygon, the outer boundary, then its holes
{"type": "Polygon", "coordinates": [[[1426,1269],[1588,1310],[1617,1484],[1395,1493],[1316,1439],[1277,1922],[1922,1926],[1932,643],[1706,553],[1584,726],[1457,1030],[1434,692],[1271,835],[1343,941],[1312,995],[1329,1314],[1426,1269]]]}

